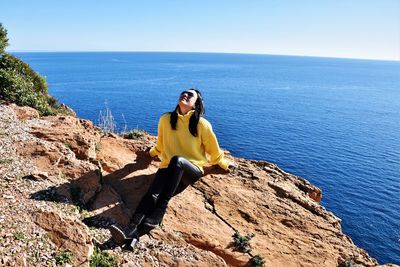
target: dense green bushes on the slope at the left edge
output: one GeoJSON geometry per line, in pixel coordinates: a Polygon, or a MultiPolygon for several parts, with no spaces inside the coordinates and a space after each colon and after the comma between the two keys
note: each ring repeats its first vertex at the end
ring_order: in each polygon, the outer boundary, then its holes
{"type": "Polygon", "coordinates": [[[7,30],[0,23],[0,101],[35,108],[41,116],[70,114],[48,94],[46,78],[29,64],[7,53],[7,46],[7,30]]]}

